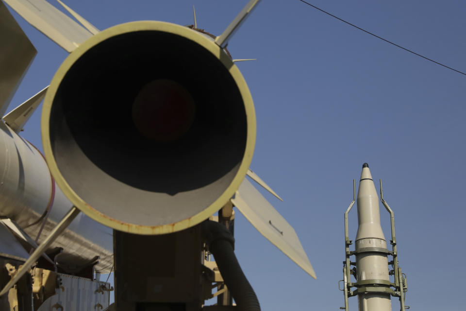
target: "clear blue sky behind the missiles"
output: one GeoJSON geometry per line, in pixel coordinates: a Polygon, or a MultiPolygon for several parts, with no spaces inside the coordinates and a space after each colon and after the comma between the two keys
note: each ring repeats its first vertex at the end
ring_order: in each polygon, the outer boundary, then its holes
{"type": "MultiPolygon", "coordinates": [[[[133,20],[192,24],[219,35],[247,0],[67,0],[99,29],[133,20]]],[[[58,5],[56,2],[52,2],[58,5]]],[[[466,71],[466,2],[313,4],[401,46],[466,71]]],[[[11,107],[48,85],[67,52],[20,19],[38,50],[11,107]]],[[[284,199],[317,280],[237,213],[236,254],[263,310],[338,310],[343,213],[369,163],[395,211],[412,310],[464,310],[466,76],[402,51],[298,0],[263,0],[230,41],[254,99],[251,168],[284,199]]],[[[24,136],[40,145],[40,110],[24,136]]],[[[378,184],[376,187],[379,188],[378,184]]],[[[389,217],[381,210],[385,237],[389,217]]],[[[357,229],[350,214],[350,236],[357,229]]],[[[350,299],[352,310],[357,298],[350,299]]],[[[398,300],[392,299],[393,310],[398,300]]]]}

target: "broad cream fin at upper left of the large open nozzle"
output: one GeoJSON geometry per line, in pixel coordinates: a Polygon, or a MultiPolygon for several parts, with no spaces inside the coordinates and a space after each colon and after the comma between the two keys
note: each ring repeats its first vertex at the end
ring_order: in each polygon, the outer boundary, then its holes
{"type": "Polygon", "coordinates": [[[67,52],[92,34],[45,0],[4,0],[21,17],[67,52]]]}

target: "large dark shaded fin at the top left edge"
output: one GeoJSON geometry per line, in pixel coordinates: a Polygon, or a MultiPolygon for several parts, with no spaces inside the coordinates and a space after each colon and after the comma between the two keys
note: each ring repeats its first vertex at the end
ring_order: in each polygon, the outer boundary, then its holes
{"type": "Polygon", "coordinates": [[[37,51],[1,0],[0,34],[0,116],[2,116],[37,51]]]}

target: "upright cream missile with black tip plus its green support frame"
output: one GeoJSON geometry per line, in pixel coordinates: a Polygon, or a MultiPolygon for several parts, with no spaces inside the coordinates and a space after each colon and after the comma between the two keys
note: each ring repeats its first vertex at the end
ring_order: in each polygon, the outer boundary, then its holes
{"type": "MultiPolygon", "coordinates": [[[[392,209],[383,199],[382,180],[380,180],[381,201],[390,213],[392,250],[387,249],[387,242],[380,225],[379,197],[369,171],[369,165],[363,164],[357,196],[358,231],[355,250],[350,251],[352,241],[349,238],[348,213],[356,200],[356,182],[353,180],[353,200],[345,212],[345,254],[343,261],[344,309],[349,311],[348,298],[358,296],[359,311],[390,311],[391,296],[398,297],[400,310],[405,310],[404,294],[408,290],[406,278],[401,273],[398,262],[397,239],[395,237],[395,217],[392,209]],[[350,256],[356,256],[356,262],[350,256]],[[388,262],[388,256],[393,260],[388,262]],[[393,270],[389,270],[389,264],[393,270]],[[351,265],[356,267],[350,268],[351,265]],[[356,279],[352,282],[351,275],[356,279]],[[393,276],[394,281],[390,280],[393,276]],[[356,289],[353,289],[356,288],[356,289]]],[[[409,309],[409,307],[406,307],[409,309]]]]}

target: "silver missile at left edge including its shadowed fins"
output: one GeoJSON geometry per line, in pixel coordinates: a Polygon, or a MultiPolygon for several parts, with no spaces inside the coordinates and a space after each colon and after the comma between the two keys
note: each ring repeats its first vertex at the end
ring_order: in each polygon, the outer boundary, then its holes
{"type": "MultiPolygon", "coordinates": [[[[2,47],[5,47],[0,49],[0,116],[3,116],[3,121],[0,121],[0,229],[6,234],[10,234],[9,230],[15,232],[26,247],[35,248],[49,236],[72,203],[56,186],[41,152],[19,135],[48,87],[4,115],[36,50],[2,1],[0,33],[2,47]]],[[[4,239],[5,236],[0,234],[0,240],[4,239]]],[[[3,243],[1,246],[1,254],[12,254],[14,245],[7,247],[3,243]]],[[[46,252],[56,247],[64,249],[57,258],[59,268],[67,268],[68,271],[76,272],[84,265],[95,263],[96,256],[100,259],[95,268],[100,273],[108,273],[113,264],[112,229],[85,215],[79,215],[46,252]]],[[[27,255],[26,250],[23,254],[27,255]]],[[[54,258],[50,257],[52,261],[54,258]]]]}

